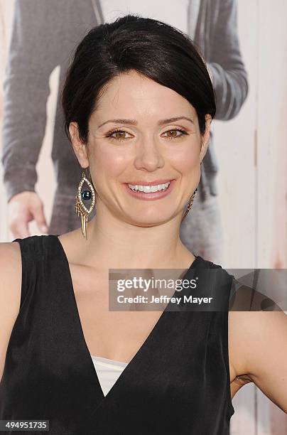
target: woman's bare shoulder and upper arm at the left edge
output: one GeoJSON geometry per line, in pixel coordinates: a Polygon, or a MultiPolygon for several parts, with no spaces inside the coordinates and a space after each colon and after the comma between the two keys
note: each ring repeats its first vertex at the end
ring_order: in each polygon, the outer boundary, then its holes
{"type": "Polygon", "coordinates": [[[22,262],[18,242],[0,243],[0,379],[9,338],[20,308],[21,281],[22,262]]]}

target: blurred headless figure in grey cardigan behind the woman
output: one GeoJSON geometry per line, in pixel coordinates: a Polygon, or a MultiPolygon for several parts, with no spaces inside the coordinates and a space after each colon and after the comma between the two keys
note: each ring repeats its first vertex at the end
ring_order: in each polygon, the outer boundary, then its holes
{"type": "MultiPolygon", "coordinates": [[[[4,80],[3,151],[4,184],[9,203],[9,227],[14,237],[27,237],[28,222],[41,232],[60,235],[80,227],[75,213],[77,185],[82,176],[63,129],[60,93],[70,55],[87,31],[117,16],[150,16],[188,33],[200,49],[215,89],[215,119],[234,118],[248,93],[247,72],[239,49],[236,0],[97,1],[16,0],[9,59],[4,80]],[[70,55],[67,55],[70,53],[70,55]],[[36,163],[46,124],[49,77],[60,65],[52,160],[57,188],[48,227],[45,199],[35,191],[36,163]]],[[[201,178],[180,227],[183,243],[194,254],[222,262],[222,225],[217,202],[218,171],[210,142],[202,160],[201,178]]],[[[48,181],[47,181],[48,182],[48,181]]],[[[94,212],[91,215],[94,215],[94,212]]]]}

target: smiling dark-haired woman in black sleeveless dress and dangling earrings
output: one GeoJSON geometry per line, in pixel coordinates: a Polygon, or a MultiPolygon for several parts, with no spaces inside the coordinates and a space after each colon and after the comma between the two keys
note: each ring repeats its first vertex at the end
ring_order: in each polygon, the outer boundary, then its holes
{"type": "Polygon", "coordinates": [[[137,16],[93,28],[63,109],[91,175],[75,193],[82,227],[1,244],[0,418],[61,435],[222,435],[247,382],[287,411],[286,317],[228,313],[231,281],[221,311],[109,311],[109,269],[222,269],[179,237],[215,116],[192,41],[137,16]]]}

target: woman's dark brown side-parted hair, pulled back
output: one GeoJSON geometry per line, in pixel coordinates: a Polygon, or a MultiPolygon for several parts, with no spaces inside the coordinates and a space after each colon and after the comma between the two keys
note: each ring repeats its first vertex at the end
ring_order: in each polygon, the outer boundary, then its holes
{"type": "Polygon", "coordinates": [[[205,114],[215,117],[216,104],[200,49],[173,26],[126,15],[92,28],[75,49],[62,91],[69,139],[70,122],[77,122],[80,139],[87,144],[89,119],[105,85],[129,70],[182,95],[197,112],[200,133],[205,132],[205,114]]]}

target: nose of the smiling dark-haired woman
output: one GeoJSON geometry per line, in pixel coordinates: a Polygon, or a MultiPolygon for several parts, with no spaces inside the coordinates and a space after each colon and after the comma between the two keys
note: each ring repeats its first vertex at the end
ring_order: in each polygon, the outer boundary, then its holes
{"type": "Polygon", "coordinates": [[[146,171],[155,171],[157,168],[163,168],[164,158],[159,149],[160,144],[153,138],[145,138],[137,144],[136,157],[134,166],[136,169],[146,171]]]}

